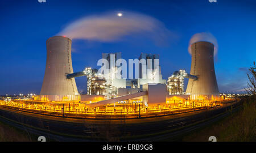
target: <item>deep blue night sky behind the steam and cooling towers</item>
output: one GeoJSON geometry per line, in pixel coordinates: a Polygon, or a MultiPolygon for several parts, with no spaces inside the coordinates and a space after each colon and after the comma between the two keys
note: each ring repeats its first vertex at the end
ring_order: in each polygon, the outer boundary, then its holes
{"type": "MultiPolygon", "coordinates": [[[[1,1],[0,95],[39,94],[46,66],[46,40],[74,20],[104,12],[138,12],[160,20],[175,33],[168,45],[155,45],[141,36],[115,42],[72,42],[73,70],[97,68],[101,53],[122,52],[122,58],[143,53],[160,55],[164,79],[175,70],[190,71],[188,42],[195,33],[210,32],[218,41],[214,57],[220,92],[240,93],[247,69],[255,61],[256,1],[1,1]]],[[[79,91],[86,78],[76,78],[79,91]]],[[[186,80],[187,86],[187,80],[186,80]]]]}

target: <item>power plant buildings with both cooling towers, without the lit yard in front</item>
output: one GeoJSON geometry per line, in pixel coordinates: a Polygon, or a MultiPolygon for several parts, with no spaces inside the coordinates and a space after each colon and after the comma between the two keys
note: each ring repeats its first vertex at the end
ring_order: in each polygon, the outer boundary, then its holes
{"type": "Polygon", "coordinates": [[[214,71],[214,45],[210,42],[193,43],[190,74],[185,70],[175,71],[167,82],[162,79],[158,54],[142,53],[138,58],[139,77],[126,79],[115,77],[121,67],[115,65],[119,59],[122,59],[120,52],[102,53],[102,59],[108,61],[107,65],[104,65],[108,73],[101,73],[92,67],[85,67],[83,71],[73,73],[71,39],[54,36],[46,41],[46,45],[47,59],[43,85],[40,95],[34,98],[38,101],[79,101],[92,107],[115,103],[142,103],[148,107],[148,105],[168,104],[173,98],[180,100],[221,98],[214,71]],[[146,62],[141,62],[141,59],[146,62]],[[146,71],[143,71],[145,67],[146,71]],[[75,77],[79,76],[87,77],[86,95],[80,95],[77,91],[75,77]],[[185,78],[189,80],[187,90],[184,92],[185,78]]]}

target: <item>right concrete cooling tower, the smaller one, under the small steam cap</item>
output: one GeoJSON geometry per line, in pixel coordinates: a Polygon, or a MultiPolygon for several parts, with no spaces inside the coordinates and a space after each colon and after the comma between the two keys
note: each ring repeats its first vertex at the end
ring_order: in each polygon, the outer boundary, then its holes
{"type": "Polygon", "coordinates": [[[190,74],[197,79],[189,79],[186,94],[191,99],[217,99],[220,92],[214,71],[214,45],[210,42],[199,41],[191,45],[192,62],[190,74]]]}

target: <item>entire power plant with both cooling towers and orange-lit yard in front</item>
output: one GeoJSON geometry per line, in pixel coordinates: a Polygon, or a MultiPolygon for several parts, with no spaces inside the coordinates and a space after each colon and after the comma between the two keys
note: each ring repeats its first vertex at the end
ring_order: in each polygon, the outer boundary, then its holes
{"type": "Polygon", "coordinates": [[[129,122],[135,124],[143,118],[147,122],[154,122],[161,121],[159,117],[174,114],[195,111],[197,114],[208,112],[210,108],[213,111],[218,108],[225,110],[222,106],[234,101],[218,91],[214,45],[211,42],[192,43],[190,73],[180,69],[168,79],[163,79],[159,54],[141,53],[138,58],[126,62],[121,52],[102,53],[97,62],[98,69],[85,67],[74,72],[71,39],[50,37],[46,46],[46,68],[40,95],[0,100],[2,108],[40,114],[42,118],[57,117],[56,120],[60,117],[64,117],[65,121],[75,118],[79,122],[80,119],[81,122],[97,119],[100,124],[93,127],[101,124],[105,127],[106,120],[117,120],[123,125],[122,121],[126,122],[127,118],[133,119],[129,122]],[[86,94],[80,94],[77,90],[76,77],[87,80],[86,94]],[[187,89],[185,79],[188,79],[187,89]]]}

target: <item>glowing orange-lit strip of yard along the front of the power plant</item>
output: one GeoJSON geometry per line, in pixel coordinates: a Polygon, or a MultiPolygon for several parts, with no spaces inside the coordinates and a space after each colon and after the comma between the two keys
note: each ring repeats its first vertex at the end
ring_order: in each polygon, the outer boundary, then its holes
{"type": "MultiPolygon", "coordinates": [[[[34,96],[34,99],[38,99],[39,96],[34,96]]],[[[229,100],[178,100],[179,96],[172,97],[175,100],[167,101],[166,105],[143,105],[143,103],[133,103],[139,102],[139,99],[122,101],[122,103],[114,103],[103,105],[102,107],[90,107],[85,103],[79,103],[79,101],[48,101],[47,97],[41,97],[41,100],[45,101],[30,101],[30,100],[11,100],[5,101],[0,100],[0,106],[11,107],[16,110],[25,110],[29,112],[36,112],[43,114],[53,114],[55,116],[62,116],[64,113],[66,116],[76,117],[76,114],[82,116],[83,114],[101,114],[101,115],[109,115],[109,114],[129,114],[130,117],[134,117],[134,114],[141,114],[145,116],[155,116],[155,113],[174,113],[177,110],[181,110],[184,112],[187,111],[195,111],[201,110],[205,108],[213,108],[221,106],[222,101],[229,100]],[[216,103],[217,102],[217,103],[216,103]],[[63,111],[64,110],[64,111],[63,111]]],[[[65,99],[65,97],[64,97],[65,99]]],[[[102,97],[94,98],[96,100],[103,99],[102,97]]],[[[94,101],[92,101],[94,102],[94,101]]],[[[141,101],[140,101],[141,102],[141,101]]],[[[128,116],[127,116],[128,117],[128,116]]]]}

